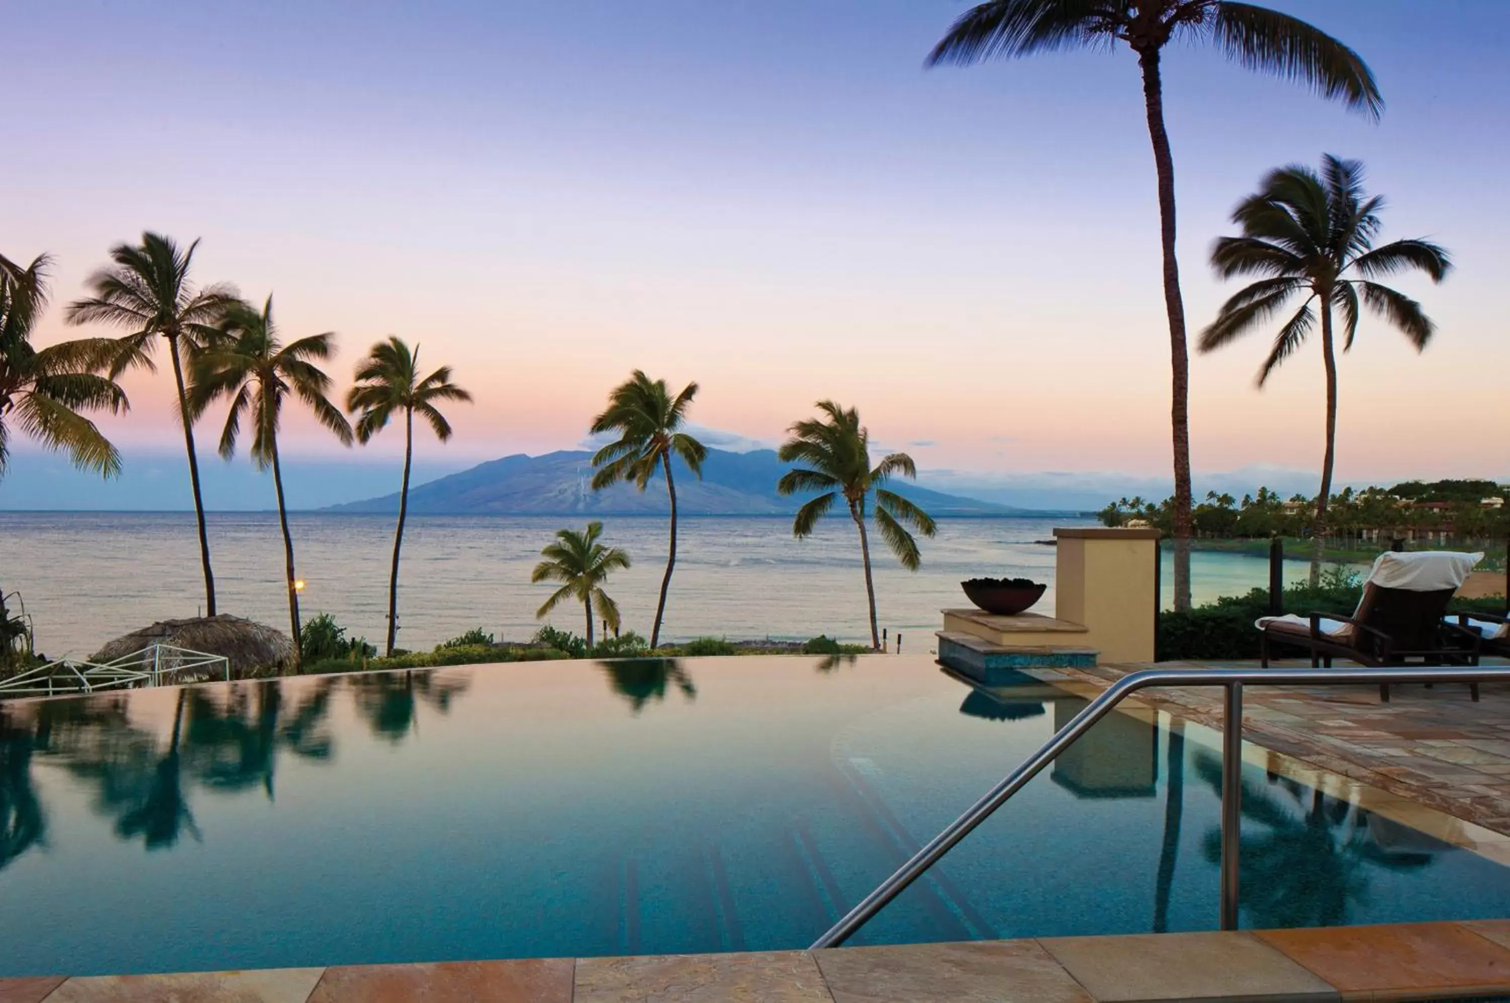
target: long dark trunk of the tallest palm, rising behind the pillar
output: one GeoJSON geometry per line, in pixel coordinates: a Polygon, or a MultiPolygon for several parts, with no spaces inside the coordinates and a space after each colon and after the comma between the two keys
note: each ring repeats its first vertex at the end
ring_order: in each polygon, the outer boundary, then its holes
{"type": "Polygon", "coordinates": [[[1169,314],[1170,431],[1175,445],[1175,609],[1190,609],[1190,353],[1185,345],[1185,303],[1179,296],[1175,259],[1175,158],[1164,131],[1164,94],[1158,75],[1158,48],[1139,53],[1143,69],[1143,104],[1148,136],[1158,173],[1158,226],[1164,255],[1164,311],[1169,314]]]}

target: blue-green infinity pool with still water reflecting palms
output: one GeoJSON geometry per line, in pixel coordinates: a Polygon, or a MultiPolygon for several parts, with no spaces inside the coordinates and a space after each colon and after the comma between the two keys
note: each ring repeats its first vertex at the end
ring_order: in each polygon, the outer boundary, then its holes
{"type": "MultiPolygon", "coordinates": [[[[0,704],[0,976],[805,947],[1081,706],[912,656],[0,704]]],[[[1217,741],[1164,724],[1099,724],[856,943],[1213,929],[1217,741]]],[[[1510,869],[1244,783],[1246,926],[1510,914],[1510,869]]]]}

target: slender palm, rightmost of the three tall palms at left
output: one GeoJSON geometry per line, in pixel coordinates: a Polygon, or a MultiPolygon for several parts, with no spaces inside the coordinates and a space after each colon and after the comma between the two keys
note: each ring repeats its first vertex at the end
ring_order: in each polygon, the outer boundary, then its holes
{"type": "Polygon", "coordinates": [[[403,412],[403,487],[399,490],[399,531],[393,537],[393,570],[388,573],[388,647],[393,655],[399,633],[399,549],[403,546],[403,520],[409,513],[409,469],[414,465],[414,415],[418,412],[445,442],[451,425],[435,407],[436,401],[470,401],[471,394],[451,383],[451,367],[420,377],[420,345],[409,351],[400,338],[379,341],[356,367],[356,386],[346,395],[346,410],[356,419],[356,440],[365,445],[388,425],[394,412],[403,412]]]}

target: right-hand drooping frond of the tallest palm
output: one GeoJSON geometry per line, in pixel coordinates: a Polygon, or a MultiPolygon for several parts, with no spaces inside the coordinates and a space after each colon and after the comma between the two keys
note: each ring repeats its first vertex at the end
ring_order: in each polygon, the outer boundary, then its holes
{"type": "Polygon", "coordinates": [[[1309,84],[1326,98],[1379,118],[1385,101],[1364,59],[1326,32],[1268,8],[1217,0],[1213,36],[1249,69],[1309,84]]]}

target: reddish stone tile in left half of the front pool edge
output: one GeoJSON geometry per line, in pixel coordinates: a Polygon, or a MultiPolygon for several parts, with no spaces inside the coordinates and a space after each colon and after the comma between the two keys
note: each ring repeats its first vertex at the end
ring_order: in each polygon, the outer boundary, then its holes
{"type": "Polygon", "coordinates": [[[572,959],[326,968],[310,1003],[571,1003],[572,959]]]}

